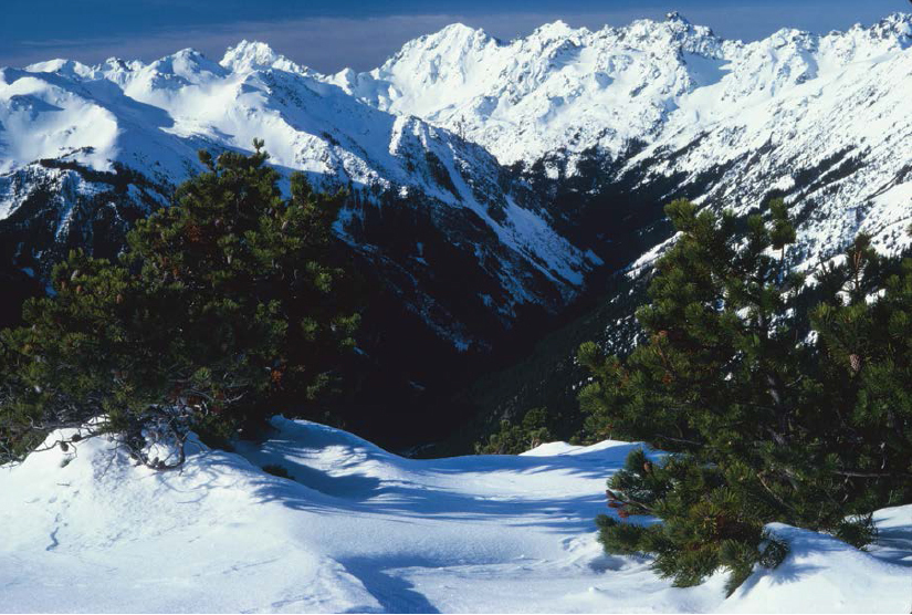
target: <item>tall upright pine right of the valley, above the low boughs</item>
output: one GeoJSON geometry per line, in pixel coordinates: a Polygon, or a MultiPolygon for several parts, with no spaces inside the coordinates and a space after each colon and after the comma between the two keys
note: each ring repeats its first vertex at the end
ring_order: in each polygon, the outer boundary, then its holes
{"type": "Polygon", "coordinates": [[[667,212],[681,237],[657,263],[650,303],[637,312],[646,343],[623,363],[581,346],[579,361],[596,377],[581,393],[584,410],[595,420],[610,416],[619,437],[664,450],[747,450],[771,438],[788,445],[806,357],[790,310],[801,280],[774,256],[789,237],[784,208],[774,204],[769,225],[751,217],[743,246],[731,212],[698,215],[688,201],[667,212]]]}

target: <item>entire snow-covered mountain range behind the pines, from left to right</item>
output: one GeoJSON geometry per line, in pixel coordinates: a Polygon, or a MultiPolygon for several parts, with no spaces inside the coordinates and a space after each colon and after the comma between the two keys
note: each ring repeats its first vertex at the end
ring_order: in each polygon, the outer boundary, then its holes
{"type": "Polygon", "coordinates": [[[220,62],[185,50],[2,69],[2,258],[46,273],[73,246],[116,251],[199,170],[197,149],[260,137],[283,170],[349,187],[339,236],[433,331],[483,346],[479,319],[556,312],[606,256],[648,260],[678,196],[741,212],[784,196],[796,267],[859,230],[906,246],[910,100],[912,15],[899,13],[751,43],[677,13],[511,42],[454,24],[335,75],[247,41],[220,62]]]}

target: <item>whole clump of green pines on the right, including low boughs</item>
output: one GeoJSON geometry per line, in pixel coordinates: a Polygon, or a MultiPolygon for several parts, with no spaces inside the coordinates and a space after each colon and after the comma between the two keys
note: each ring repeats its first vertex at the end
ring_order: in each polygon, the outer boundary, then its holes
{"type": "Polygon", "coordinates": [[[653,553],[682,585],[727,567],[731,590],[764,561],[765,523],[870,541],[874,507],[912,500],[912,261],[861,236],[817,272],[811,308],[782,200],[746,221],[665,211],[680,237],[637,312],[640,344],[578,353],[589,435],[678,454],[646,473],[631,455],[612,479],[622,517],[663,523],[601,521],[606,549],[653,553]]]}

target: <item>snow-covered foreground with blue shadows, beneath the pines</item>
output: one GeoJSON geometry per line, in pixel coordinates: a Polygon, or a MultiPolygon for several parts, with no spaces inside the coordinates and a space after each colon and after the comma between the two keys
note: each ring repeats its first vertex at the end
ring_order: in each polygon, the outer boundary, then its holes
{"type": "Polygon", "coordinates": [[[725,600],[721,575],[673,588],[647,559],[601,553],[593,518],[635,445],[411,460],[321,425],[274,426],[238,454],[192,447],[180,473],[134,467],[103,439],[0,468],[0,612],[912,606],[912,507],[878,513],[870,553],[773,527],[792,554],[725,600]]]}

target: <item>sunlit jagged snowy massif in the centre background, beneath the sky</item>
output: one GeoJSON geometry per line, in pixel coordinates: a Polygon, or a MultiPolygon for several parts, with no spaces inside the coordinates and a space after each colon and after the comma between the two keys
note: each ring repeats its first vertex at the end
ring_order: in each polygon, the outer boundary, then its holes
{"type": "Polygon", "coordinates": [[[503,43],[462,24],[407,43],[369,73],[332,77],[360,100],[462,132],[504,164],[643,138],[700,85],[684,54],[710,62],[723,42],[680,18],[598,32],[562,21],[503,43]]]}

